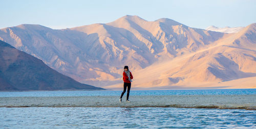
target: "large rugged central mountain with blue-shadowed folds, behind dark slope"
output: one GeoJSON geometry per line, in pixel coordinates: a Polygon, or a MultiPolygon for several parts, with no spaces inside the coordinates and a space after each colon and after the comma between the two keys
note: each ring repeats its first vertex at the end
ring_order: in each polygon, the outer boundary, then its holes
{"type": "Polygon", "coordinates": [[[141,70],[157,60],[194,52],[222,36],[171,19],[147,22],[130,15],[108,24],[71,29],[19,25],[0,31],[0,39],[15,48],[79,82],[98,87],[119,82],[124,65],[141,70]]]}

